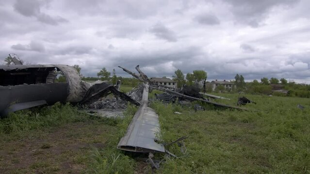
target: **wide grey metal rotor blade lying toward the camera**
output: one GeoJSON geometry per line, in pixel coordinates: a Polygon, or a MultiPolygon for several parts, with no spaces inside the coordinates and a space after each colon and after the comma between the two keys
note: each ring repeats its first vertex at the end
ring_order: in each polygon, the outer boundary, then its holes
{"type": "Polygon", "coordinates": [[[160,132],[158,115],[147,107],[148,84],[145,85],[141,105],[133,116],[124,137],[117,149],[131,152],[165,152],[162,144],[156,143],[156,134],[160,132]]]}

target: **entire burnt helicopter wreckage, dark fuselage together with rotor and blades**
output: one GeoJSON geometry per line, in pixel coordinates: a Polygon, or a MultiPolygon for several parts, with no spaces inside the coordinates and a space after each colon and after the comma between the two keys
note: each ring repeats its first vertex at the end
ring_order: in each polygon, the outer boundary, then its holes
{"type": "Polygon", "coordinates": [[[172,98],[246,110],[206,100],[196,89],[194,90],[195,94],[192,94],[192,89],[187,87],[177,92],[169,87],[156,84],[139,69],[139,65],[136,66],[139,75],[125,68],[122,69],[143,82],[142,85],[125,94],[119,91],[119,86],[114,87],[102,81],[95,83],[82,81],[79,73],[67,65],[22,65],[18,63],[16,65],[1,65],[0,116],[35,106],[51,105],[55,102],[94,105],[100,98],[113,93],[116,99],[120,98],[139,106],[117,148],[130,152],[149,153],[146,161],[152,165],[152,168],[158,168],[161,161],[152,160],[153,153],[176,157],[167,150],[167,146],[173,143],[177,143],[181,147],[181,151],[185,153],[186,148],[183,140],[186,137],[181,137],[172,143],[158,142],[156,135],[160,132],[159,116],[148,107],[148,92],[152,89],[161,90],[173,96],[172,98]],[[65,76],[66,82],[57,82],[56,77],[59,73],[65,76]]]}

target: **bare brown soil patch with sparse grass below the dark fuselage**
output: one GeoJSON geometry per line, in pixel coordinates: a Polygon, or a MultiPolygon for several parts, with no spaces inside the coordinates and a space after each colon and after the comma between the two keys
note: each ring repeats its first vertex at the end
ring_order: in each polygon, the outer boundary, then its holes
{"type": "MultiPolygon", "coordinates": [[[[72,123],[41,138],[24,137],[1,145],[0,174],[81,173],[93,147],[104,148],[108,125],[72,123]]],[[[40,137],[40,136],[39,136],[40,137]]]]}

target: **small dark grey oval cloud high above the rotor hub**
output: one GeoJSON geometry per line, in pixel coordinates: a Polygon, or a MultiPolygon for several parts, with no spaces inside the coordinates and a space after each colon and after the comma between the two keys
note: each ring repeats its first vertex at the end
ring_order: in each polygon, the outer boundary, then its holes
{"type": "Polygon", "coordinates": [[[165,27],[161,23],[157,23],[149,29],[149,32],[153,33],[156,37],[164,39],[169,42],[177,42],[176,34],[171,30],[165,27]]]}

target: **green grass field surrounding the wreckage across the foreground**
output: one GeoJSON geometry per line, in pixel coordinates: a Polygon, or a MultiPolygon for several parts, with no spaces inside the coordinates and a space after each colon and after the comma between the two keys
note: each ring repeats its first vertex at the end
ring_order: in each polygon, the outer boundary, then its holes
{"type": "MultiPolygon", "coordinates": [[[[238,94],[215,95],[231,99],[217,102],[237,103],[238,94]]],[[[159,114],[159,137],[164,142],[188,137],[184,140],[187,152],[180,153],[178,145],[168,147],[179,158],[166,159],[157,173],[309,174],[310,100],[245,97],[257,102],[244,106],[249,111],[194,102],[206,108],[195,112],[194,103],[151,103],[159,114]]],[[[135,111],[129,105],[124,119],[98,118],[57,103],[11,114],[0,120],[0,173],[150,173],[147,164],[134,159],[136,155],[116,149],[135,111]]]]}

